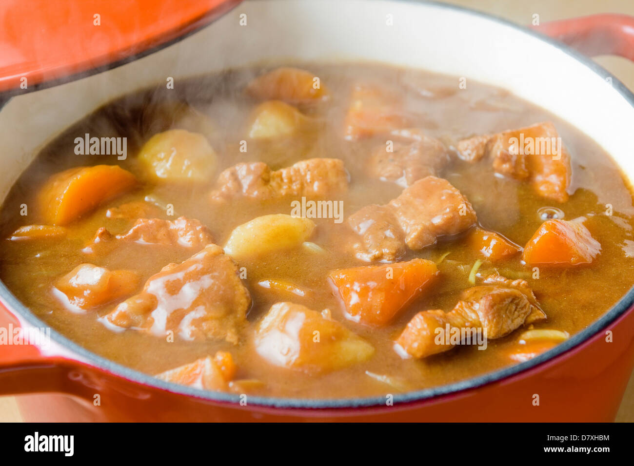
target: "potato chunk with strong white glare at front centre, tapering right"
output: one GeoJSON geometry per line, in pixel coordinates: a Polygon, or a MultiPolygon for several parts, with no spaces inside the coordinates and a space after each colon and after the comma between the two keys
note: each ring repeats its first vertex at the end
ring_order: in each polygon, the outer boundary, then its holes
{"type": "Polygon", "coordinates": [[[314,374],[366,361],[374,348],[317,311],[277,302],[259,323],[256,351],[273,365],[314,374]]]}

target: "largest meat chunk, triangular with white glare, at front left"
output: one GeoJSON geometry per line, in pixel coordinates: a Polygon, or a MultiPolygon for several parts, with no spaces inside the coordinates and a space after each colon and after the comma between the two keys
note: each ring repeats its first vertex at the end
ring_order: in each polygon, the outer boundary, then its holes
{"type": "Polygon", "coordinates": [[[181,264],[169,264],[148,279],[141,293],[115,307],[106,323],[184,340],[238,342],[251,298],[238,269],[221,247],[210,244],[181,264]]]}

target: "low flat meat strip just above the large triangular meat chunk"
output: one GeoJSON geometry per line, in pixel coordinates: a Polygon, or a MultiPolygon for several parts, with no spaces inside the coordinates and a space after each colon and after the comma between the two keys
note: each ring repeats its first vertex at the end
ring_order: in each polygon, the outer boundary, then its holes
{"type": "Polygon", "coordinates": [[[196,219],[138,219],[125,235],[117,235],[117,240],[133,241],[141,244],[161,244],[202,249],[214,242],[209,229],[196,219]]]}

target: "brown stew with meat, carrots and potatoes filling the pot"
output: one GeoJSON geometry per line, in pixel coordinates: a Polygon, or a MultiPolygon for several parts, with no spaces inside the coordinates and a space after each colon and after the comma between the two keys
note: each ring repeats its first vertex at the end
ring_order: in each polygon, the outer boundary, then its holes
{"type": "Polygon", "coordinates": [[[457,77],[297,66],[67,129],[4,202],[0,278],[117,363],[292,398],[526,361],[633,285],[630,185],[578,129],[457,77]]]}

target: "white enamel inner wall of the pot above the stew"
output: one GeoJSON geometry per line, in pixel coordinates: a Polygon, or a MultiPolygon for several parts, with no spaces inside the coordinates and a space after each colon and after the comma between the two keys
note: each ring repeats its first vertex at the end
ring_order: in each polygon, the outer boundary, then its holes
{"type": "Polygon", "coordinates": [[[566,119],[634,174],[634,108],[588,67],[522,30],[413,1],[269,0],[247,1],[141,60],[13,98],[0,111],[0,199],[39,148],[103,103],[169,76],[276,58],[383,61],[503,87],[566,119]]]}

